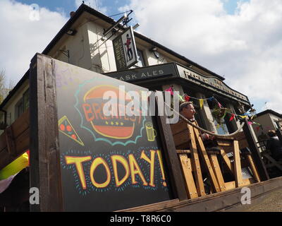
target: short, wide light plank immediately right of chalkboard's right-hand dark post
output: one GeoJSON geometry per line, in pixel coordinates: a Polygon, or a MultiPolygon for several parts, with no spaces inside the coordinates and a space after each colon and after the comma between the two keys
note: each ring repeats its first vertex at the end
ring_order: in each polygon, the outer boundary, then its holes
{"type": "Polygon", "coordinates": [[[192,174],[191,160],[185,154],[180,154],[179,158],[180,158],[180,163],[182,166],[182,172],[185,177],[185,182],[186,182],[185,185],[186,185],[188,197],[197,198],[198,194],[197,194],[197,189],[196,189],[195,181],[194,181],[193,174],[192,174]]]}

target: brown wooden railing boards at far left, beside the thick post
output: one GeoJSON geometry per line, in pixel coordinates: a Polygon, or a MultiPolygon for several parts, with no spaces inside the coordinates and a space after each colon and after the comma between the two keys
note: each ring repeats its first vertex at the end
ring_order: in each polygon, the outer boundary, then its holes
{"type": "Polygon", "coordinates": [[[0,169],[16,160],[30,145],[30,111],[27,109],[0,136],[0,169]]]}

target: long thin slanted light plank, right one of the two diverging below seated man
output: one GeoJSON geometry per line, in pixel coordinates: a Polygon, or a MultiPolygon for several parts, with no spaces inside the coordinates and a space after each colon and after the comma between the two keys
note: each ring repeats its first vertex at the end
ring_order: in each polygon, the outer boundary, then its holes
{"type": "Polygon", "coordinates": [[[216,176],[214,174],[214,170],[212,169],[211,162],[209,161],[209,156],[207,155],[206,148],[204,148],[204,143],[202,142],[202,138],[200,136],[200,132],[193,128],[192,129],[195,133],[195,138],[197,139],[197,143],[200,146],[200,154],[202,155],[202,159],[204,162],[204,165],[207,168],[207,171],[209,172],[209,176],[211,178],[212,186],[214,187],[214,191],[219,192],[221,189],[219,188],[219,183],[216,180],[216,176]]]}

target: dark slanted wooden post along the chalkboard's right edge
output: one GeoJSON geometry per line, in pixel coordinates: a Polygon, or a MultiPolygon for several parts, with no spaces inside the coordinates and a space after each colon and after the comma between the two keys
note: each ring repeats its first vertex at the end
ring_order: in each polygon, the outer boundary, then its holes
{"type": "MultiPolygon", "coordinates": [[[[156,100],[157,105],[157,100],[156,100]]],[[[156,106],[156,111],[158,107],[156,106]]],[[[168,176],[171,179],[171,187],[175,198],[180,201],[188,199],[185,189],[185,182],[182,177],[178,156],[176,153],[176,146],[174,145],[171,127],[166,124],[166,117],[156,114],[157,124],[160,130],[162,146],[164,148],[164,159],[168,167],[168,176]]]]}

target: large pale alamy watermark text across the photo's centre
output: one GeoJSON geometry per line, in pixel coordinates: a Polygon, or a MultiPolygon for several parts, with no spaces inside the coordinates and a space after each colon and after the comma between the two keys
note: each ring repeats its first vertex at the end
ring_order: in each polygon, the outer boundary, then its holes
{"type": "MultiPolygon", "coordinates": [[[[119,85],[118,95],[109,90],[103,95],[102,109],[106,117],[121,116],[166,116],[167,124],[175,124],[179,119],[179,92],[161,91],[128,91],[125,92],[125,85],[119,85]],[[158,102],[156,109],[156,99],[158,102]],[[173,109],[171,106],[173,105],[173,109]]],[[[94,115],[91,104],[85,104],[85,114],[88,118],[94,115]]]]}

